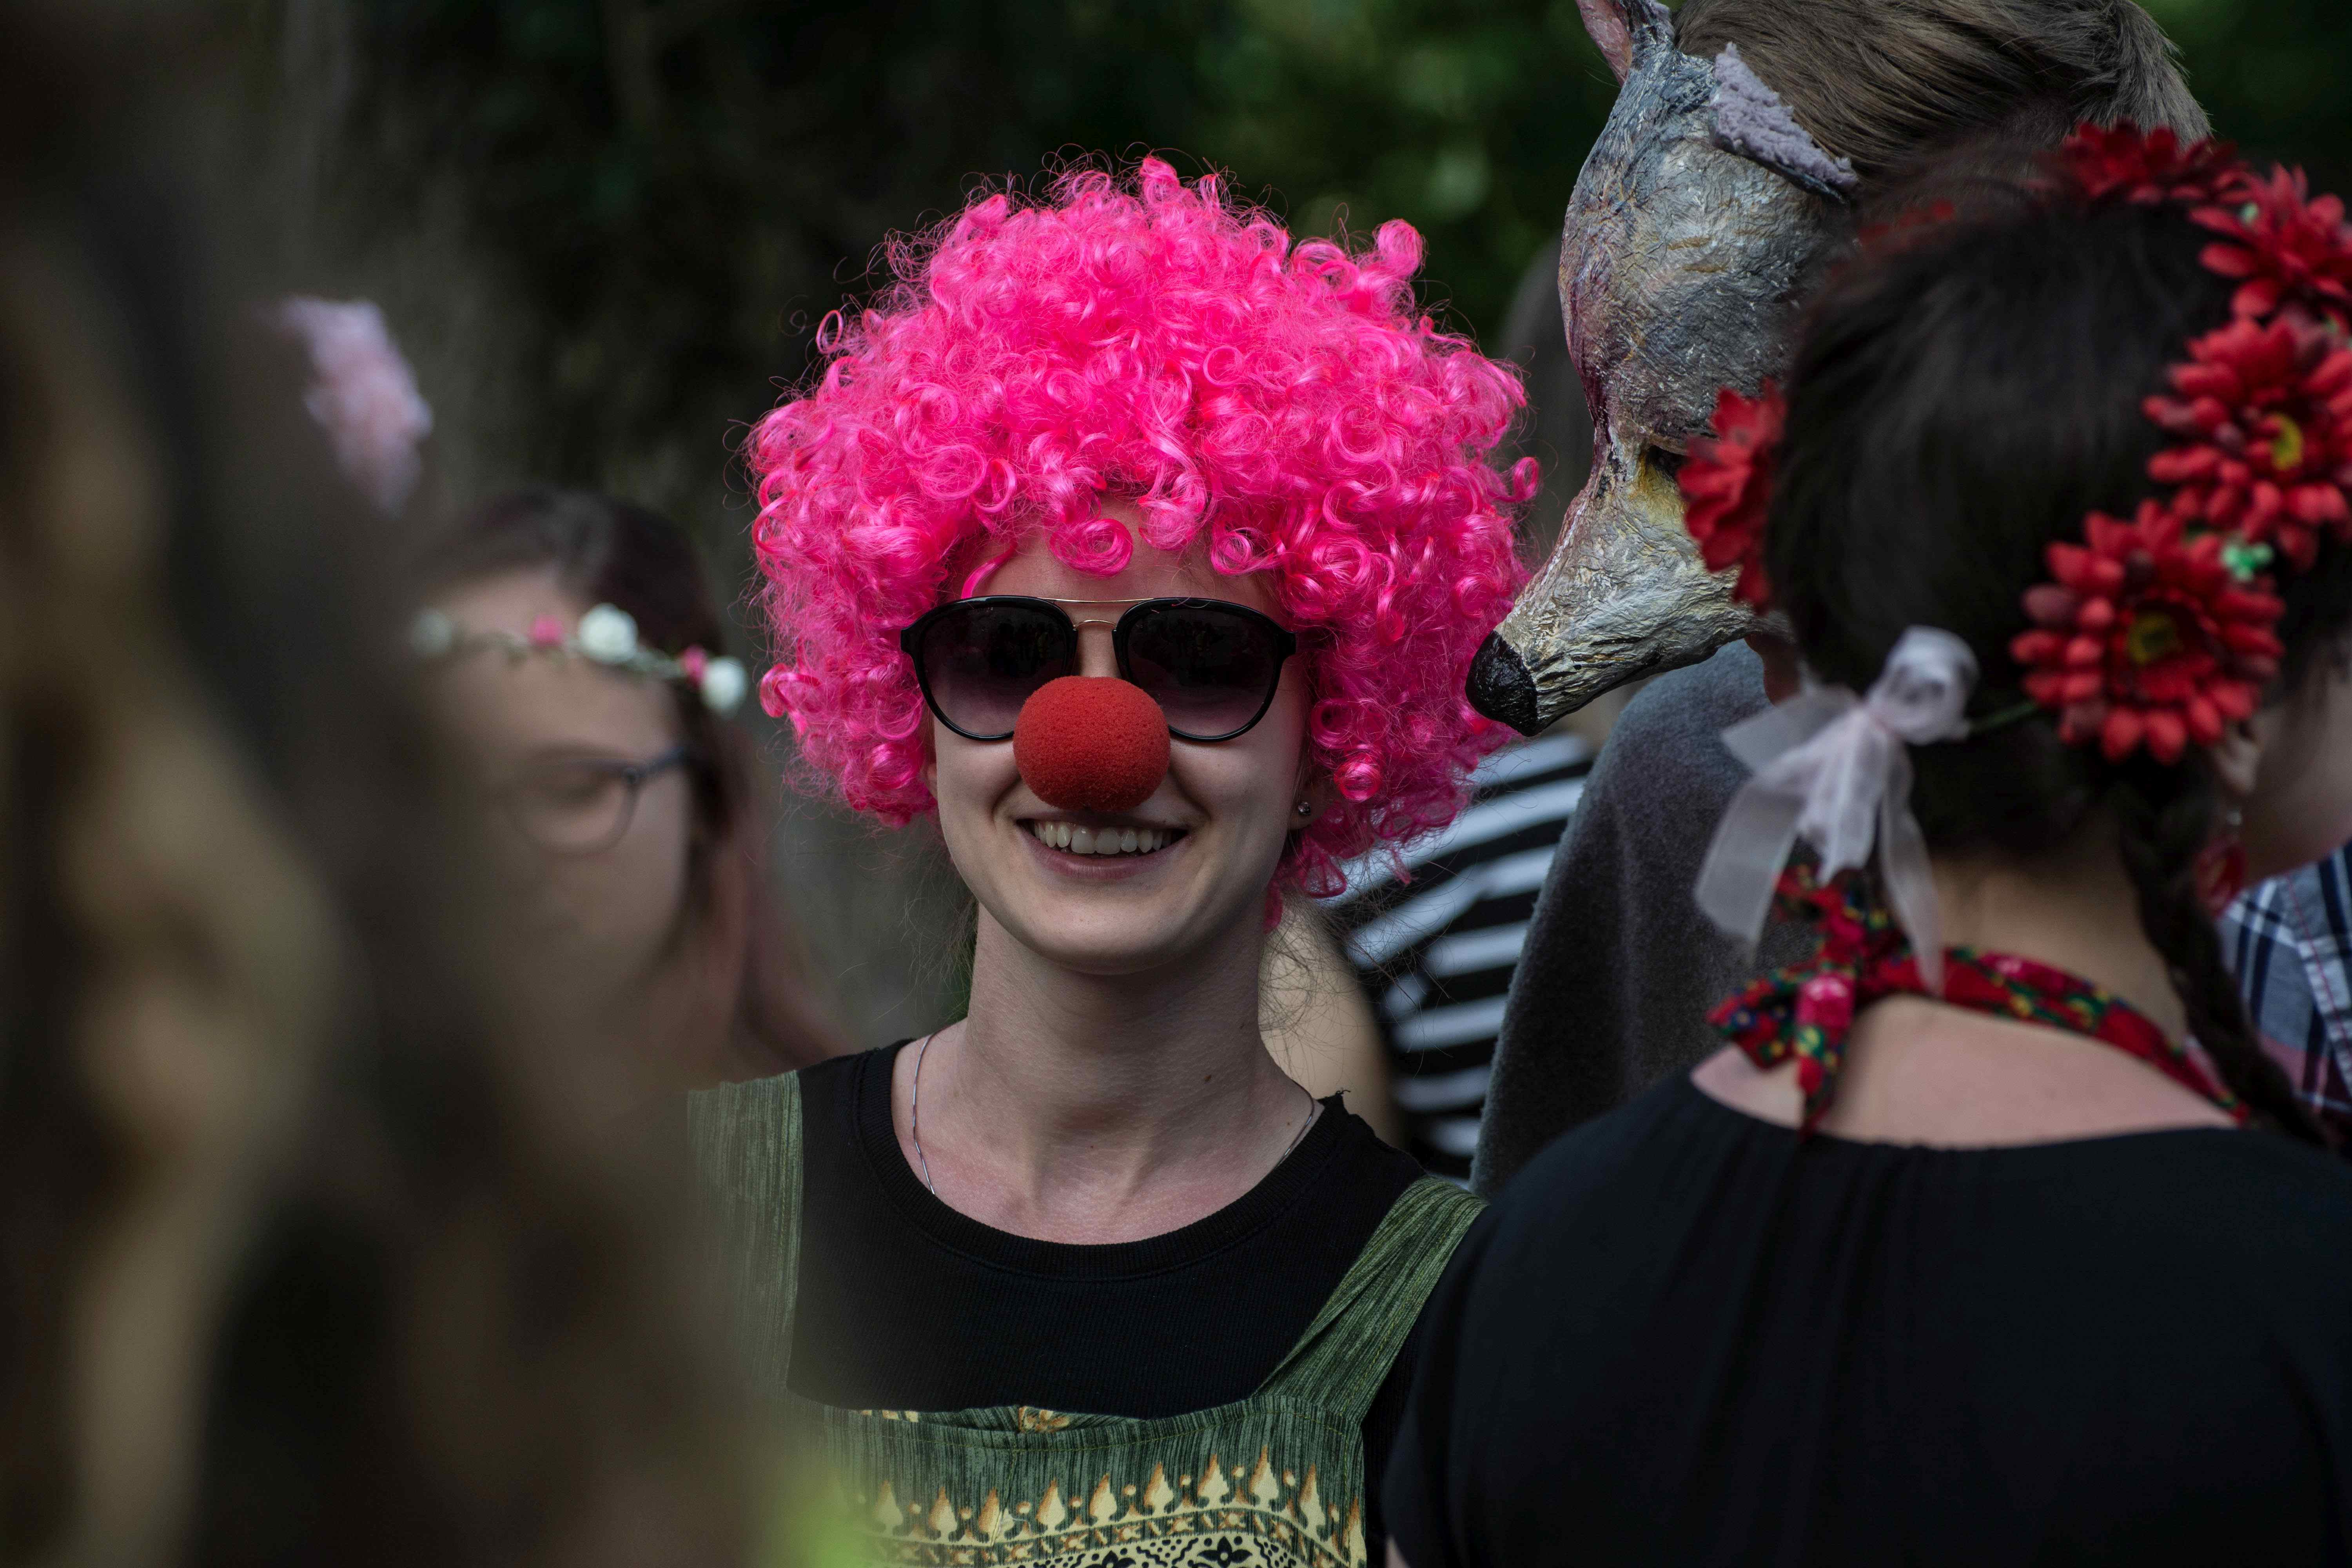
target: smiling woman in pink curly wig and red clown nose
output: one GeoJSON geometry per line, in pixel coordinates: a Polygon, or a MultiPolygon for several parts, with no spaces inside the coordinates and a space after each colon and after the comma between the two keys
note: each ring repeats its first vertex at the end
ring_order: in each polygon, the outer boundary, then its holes
{"type": "Polygon", "coordinates": [[[764,1371],[887,1535],[993,1561],[1127,1507],[1167,1561],[1362,1563],[1475,1201],[1282,1072],[1258,971],[1282,889],[1446,823],[1503,738],[1463,675],[1524,576],[1517,378],[1416,310],[1409,226],[1291,244],[1157,160],[889,259],[750,440],[762,693],[851,806],[938,813],[971,1009],[699,1103],[764,1371]]]}

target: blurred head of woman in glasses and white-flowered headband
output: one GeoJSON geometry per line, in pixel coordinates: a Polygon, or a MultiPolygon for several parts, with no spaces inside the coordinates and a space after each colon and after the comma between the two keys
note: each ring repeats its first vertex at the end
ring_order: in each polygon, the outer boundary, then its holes
{"type": "Polygon", "coordinates": [[[684,531],[524,489],[433,538],[409,628],[489,804],[527,933],[687,1086],[844,1046],[767,886],[746,696],[684,531]]]}

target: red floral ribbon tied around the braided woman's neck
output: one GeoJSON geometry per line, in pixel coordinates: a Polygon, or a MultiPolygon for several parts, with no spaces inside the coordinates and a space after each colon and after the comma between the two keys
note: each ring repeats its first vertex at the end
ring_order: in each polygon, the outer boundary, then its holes
{"type": "Polygon", "coordinates": [[[2185,1044],[2122,997],[2063,969],[2004,952],[1945,947],[1943,994],[1936,997],[1919,978],[1900,926],[1856,872],[1823,884],[1811,867],[1792,865],[1780,872],[1776,905],[1783,919],[1820,926],[1820,950],[1804,964],[1764,976],[1708,1020],[1757,1067],[1797,1063],[1806,1133],[1837,1098],[1853,1016],[1882,997],[1931,997],[1945,1006],[2084,1034],[2140,1058],[2230,1112],[2232,1121],[2246,1121],[2246,1105],[2185,1044]]]}

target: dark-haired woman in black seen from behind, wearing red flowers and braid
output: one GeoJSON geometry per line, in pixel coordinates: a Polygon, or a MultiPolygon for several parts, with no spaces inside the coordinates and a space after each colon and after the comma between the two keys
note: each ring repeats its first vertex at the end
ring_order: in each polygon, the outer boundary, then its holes
{"type": "Polygon", "coordinates": [[[1917,209],[1682,470],[1811,677],[1698,903],[1813,952],[1463,1241],[1392,1561],[2352,1549],[2352,1173],[2209,914],[2352,835],[2352,228],[2129,127],[1917,209]]]}

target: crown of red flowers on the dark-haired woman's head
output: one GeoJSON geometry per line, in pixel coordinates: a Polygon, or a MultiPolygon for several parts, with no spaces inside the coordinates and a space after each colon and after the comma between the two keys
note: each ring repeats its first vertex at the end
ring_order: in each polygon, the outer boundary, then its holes
{"type": "MultiPolygon", "coordinates": [[[[2258,176],[2227,143],[2171,129],[2082,127],[2058,155],[2084,202],[2178,202],[2211,230],[2204,263],[2239,280],[2232,320],[2190,343],[2145,400],[2171,437],[2147,477],[2169,489],[2129,522],[2091,512],[2084,543],[2051,543],[2056,581],[2025,592],[2032,630],[2011,656],[2070,745],[2110,762],[2178,762],[2249,717],[2277,675],[2284,604],[2270,569],[2307,569],[2319,536],[2352,543],[2352,226],[2300,172],[2258,176]]],[[[1682,494],[1712,571],[1762,607],[1764,515],[1785,404],[1724,388],[1715,440],[1691,442],[1682,494]]]]}

